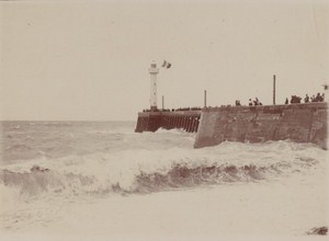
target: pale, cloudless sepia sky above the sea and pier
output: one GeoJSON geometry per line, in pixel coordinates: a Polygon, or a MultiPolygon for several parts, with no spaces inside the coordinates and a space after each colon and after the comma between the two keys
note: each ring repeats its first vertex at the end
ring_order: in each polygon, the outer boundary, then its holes
{"type": "Polygon", "coordinates": [[[314,0],[1,1],[0,119],[136,120],[149,107],[276,104],[329,82],[329,4],[314,0]]]}

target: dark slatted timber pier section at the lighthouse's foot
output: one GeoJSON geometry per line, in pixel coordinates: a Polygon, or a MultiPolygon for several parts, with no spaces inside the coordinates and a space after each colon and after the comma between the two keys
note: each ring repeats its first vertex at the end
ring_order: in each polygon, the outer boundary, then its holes
{"type": "Polygon", "coordinates": [[[182,128],[188,133],[196,133],[201,118],[201,111],[177,112],[140,112],[136,125],[136,133],[156,131],[159,128],[182,128]]]}

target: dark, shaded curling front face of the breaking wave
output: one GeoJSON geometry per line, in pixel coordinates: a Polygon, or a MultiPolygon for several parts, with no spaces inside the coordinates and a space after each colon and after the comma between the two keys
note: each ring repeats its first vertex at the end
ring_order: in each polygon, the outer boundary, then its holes
{"type": "Polygon", "coordinates": [[[19,187],[22,194],[30,195],[47,191],[61,193],[65,190],[69,190],[73,194],[81,191],[84,193],[146,193],[178,187],[191,187],[201,184],[264,180],[266,179],[266,173],[277,172],[274,167],[270,169],[271,170],[266,170],[266,168],[259,168],[257,165],[243,165],[239,168],[236,165],[201,165],[189,168],[188,164],[174,164],[166,173],[136,173],[129,186],[122,185],[120,181],[111,182],[110,180],[107,182],[109,185],[102,185],[98,183],[99,180],[95,175],[75,173],[60,175],[37,165],[33,167],[30,172],[23,173],[2,170],[0,179],[5,186],[19,187]],[[92,186],[93,188],[90,188],[92,186]]]}

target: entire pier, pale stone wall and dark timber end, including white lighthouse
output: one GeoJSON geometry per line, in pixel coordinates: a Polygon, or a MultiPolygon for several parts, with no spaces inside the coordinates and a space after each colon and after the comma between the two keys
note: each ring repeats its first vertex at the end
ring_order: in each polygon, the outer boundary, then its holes
{"type": "Polygon", "coordinates": [[[164,110],[162,106],[159,110],[155,90],[158,73],[156,64],[151,64],[149,72],[150,108],[138,113],[136,133],[181,128],[196,133],[194,148],[215,146],[223,141],[263,142],[290,139],[295,142],[313,142],[328,149],[327,102],[222,107],[205,105],[197,110],[164,110]]]}

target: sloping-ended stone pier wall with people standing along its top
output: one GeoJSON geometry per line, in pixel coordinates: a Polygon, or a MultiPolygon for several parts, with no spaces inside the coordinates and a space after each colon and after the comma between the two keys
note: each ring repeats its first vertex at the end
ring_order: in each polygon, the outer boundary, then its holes
{"type": "Polygon", "coordinates": [[[194,147],[291,139],[327,149],[327,115],[324,102],[203,108],[194,147]]]}

